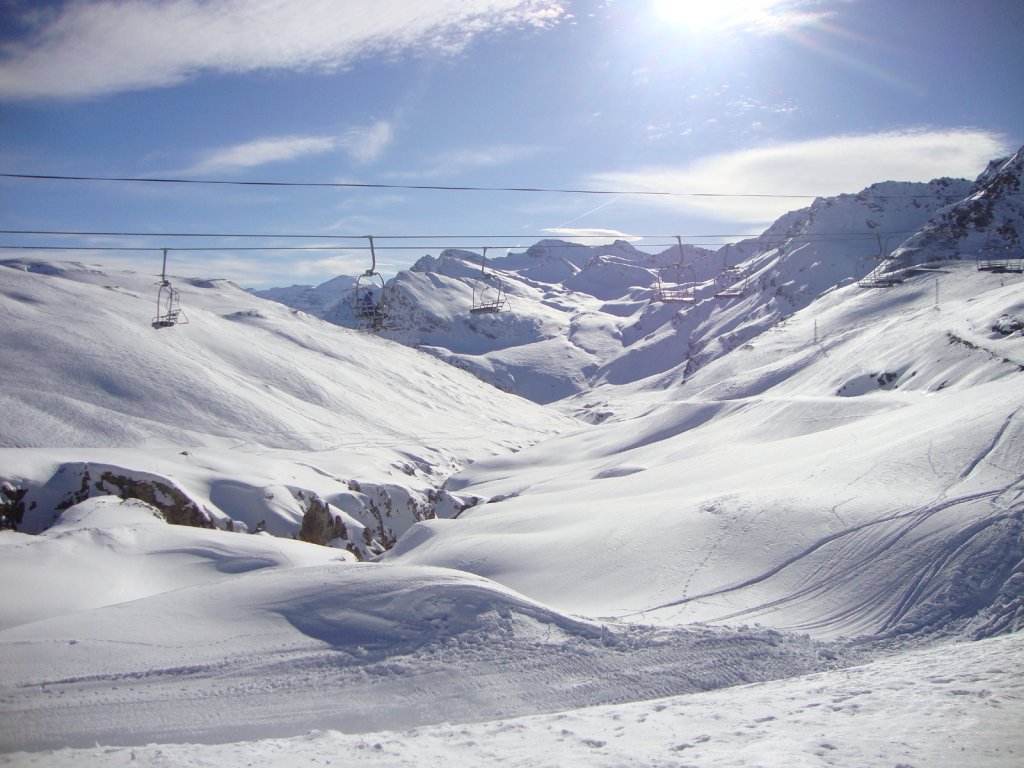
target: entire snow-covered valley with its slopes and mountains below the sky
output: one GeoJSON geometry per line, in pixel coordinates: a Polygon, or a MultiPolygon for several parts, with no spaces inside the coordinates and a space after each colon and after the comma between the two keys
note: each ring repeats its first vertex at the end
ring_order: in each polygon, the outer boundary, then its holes
{"type": "Polygon", "coordinates": [[[0,764],[1019,765],[1022,176],[451,250],[376,334],[0,262],[0,764]]]}

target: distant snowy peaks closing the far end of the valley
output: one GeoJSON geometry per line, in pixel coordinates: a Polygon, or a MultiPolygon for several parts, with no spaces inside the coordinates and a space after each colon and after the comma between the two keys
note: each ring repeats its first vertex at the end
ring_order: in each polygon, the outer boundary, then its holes
{"type": "Polygon", "coordinates": [[[385,335],[501,389],[551,402],[589,388],[599,366],[622,352],[622,329],[646,306],[656,267],[678,253],[652,256],[624,242],[590,248],[542,241],[487,260],[507,307],[473,314],[474,299],[494,291],[493,280],[481,280],[479,258],[445,251],[400,272],[388,284],[393,311],[385,335]]]}

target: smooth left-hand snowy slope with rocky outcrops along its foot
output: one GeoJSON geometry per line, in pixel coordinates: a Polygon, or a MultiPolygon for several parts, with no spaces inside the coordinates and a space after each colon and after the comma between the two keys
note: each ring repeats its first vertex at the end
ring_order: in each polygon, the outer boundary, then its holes
{"type": "Polygon", "coordinates": [[[34,261],[0,271],[0,481],[27,493],[24,530],[89,495],[279,536],[330,504],[319,538],[366,556],[443,507],[434,486],[455,468],[565,424],[229,283],[175,281],[188,323],[155,330],[144,274],[34,261]]]}

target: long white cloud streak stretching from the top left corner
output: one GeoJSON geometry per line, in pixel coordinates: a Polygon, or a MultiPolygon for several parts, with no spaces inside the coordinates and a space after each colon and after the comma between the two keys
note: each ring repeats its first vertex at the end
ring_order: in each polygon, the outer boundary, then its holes
{"type": "Polygon", "coordinates": [[[0,98],[86,98],[204,72],[332,71],[397,50],[453,52],[477,35],[547,26],[562,0],[68,2],[0,50],[0,98]]]}

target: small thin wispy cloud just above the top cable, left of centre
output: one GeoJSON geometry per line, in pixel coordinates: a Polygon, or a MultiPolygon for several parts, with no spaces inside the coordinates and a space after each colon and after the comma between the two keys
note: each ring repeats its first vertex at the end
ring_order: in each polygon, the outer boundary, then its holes
{"type": "Polygon", "coordinates": [[[271,136],[224,146],[206,153],[184,175],[229,173],[269,163],[296,160],[309,155],[342,151],[353,162],[365,165],[377,160],[391,142],[390,123],[379,121],[350,128],[337,136],[271,136]]]}

